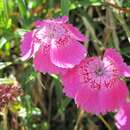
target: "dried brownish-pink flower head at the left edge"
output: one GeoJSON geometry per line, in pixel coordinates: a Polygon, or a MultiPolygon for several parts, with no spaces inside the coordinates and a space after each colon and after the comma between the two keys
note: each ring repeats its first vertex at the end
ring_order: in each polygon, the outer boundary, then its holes
{"type": "Polygon", "coordinates": [[[17,97],[22,94],[22,90],[17,85],[0,85],[0,110],[10,102],[16,101],[17,97]]]}

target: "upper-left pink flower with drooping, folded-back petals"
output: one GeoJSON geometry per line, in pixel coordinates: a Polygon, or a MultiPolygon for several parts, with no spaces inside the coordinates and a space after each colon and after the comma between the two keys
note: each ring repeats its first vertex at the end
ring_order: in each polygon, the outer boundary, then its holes
{"type": "Polygon", "coordinates": [[[22,40],[22,59],[34,57],[35,69],[44,73],[60,73],[79,64],[86,56],[86,48],[79,41],[86,38],[67,21],[67,16],[36,21],[37,28],[22,40]]]}

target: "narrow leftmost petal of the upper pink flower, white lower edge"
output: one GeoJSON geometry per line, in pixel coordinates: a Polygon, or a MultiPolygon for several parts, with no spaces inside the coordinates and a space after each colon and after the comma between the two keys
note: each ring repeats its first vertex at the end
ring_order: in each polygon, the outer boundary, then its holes
{"type": "Polygon", "coordinates": [[[33,32],[27,32],[25,33],[23,39],[22,39],[22,43],[20,46],[21,49],[21,55],[22,55],[22,60],[26,60],[28,58],[31,58],[34,52],[34,48],[33,48],[33,32]]]}

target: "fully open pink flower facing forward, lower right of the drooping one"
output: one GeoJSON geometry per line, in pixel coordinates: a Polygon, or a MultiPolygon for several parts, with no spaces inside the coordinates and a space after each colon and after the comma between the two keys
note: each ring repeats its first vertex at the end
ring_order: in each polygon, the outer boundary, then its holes
{"type": "Polygon", "coordinates": [[[128,89],[121,79],[126,74],[123,72],[129,73],[120,54],[106,49],[103,59],[86,58],[61,77],[64,92],[83,110],[105,114],[126,101],[128,89]]]}

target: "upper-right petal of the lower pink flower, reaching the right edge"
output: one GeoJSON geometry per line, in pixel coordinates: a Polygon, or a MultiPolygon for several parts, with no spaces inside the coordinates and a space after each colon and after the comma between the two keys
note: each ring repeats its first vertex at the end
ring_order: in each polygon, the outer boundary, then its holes
{"type": "Polygon", "coordinates": [[[104,58],[112,60],[122,75],[130,77],[130,66],[124,63],[122,56],[115,49],[106,49],[104,58]]]}

